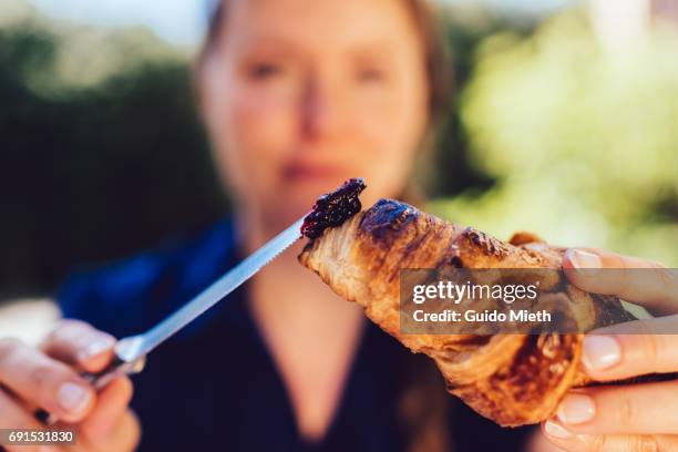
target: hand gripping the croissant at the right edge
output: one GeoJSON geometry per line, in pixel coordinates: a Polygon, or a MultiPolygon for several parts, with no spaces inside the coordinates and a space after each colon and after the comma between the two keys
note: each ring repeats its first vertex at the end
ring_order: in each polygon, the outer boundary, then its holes
{"type": "MultiPolygon", "coordinates": [[[[678,280],[664,266],[597,249],[568,249],[566,275],[583,290],[618,296],[666,317],[637,320],[638,331],[678,331],[678,280]],[[648,286],[637,273],[624,285],[578,268],[657,269],[648,286]],[[659,323],[662,323],[661,326],[659,323]]],[[[629,326],[608,327],[584,338],[583,369],[599,382],[678,371],[678,335],[626,333],[629,326]]],[[[639,384],[602,384],[567,393],[556,414],[542,424],[553,443],[566,451],[678,451],[678,380],[639,384]]]]}

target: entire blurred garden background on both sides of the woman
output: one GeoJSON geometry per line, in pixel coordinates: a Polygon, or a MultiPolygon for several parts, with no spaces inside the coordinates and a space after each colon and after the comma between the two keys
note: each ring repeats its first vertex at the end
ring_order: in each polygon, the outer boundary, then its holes
{"type": "MultiPolygon", "coordinates": [[[[431,212],[678,266],[678,2],[440,6],[431,212]]],[[[204,25],[201,1],[0,0],[0,302],[227,213],[192,99],[204,25]]]]}

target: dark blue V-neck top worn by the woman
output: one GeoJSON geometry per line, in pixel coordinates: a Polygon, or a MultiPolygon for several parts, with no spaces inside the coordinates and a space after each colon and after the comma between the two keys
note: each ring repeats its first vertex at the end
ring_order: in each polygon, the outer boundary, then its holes
{"type": "MultiPolygon", "coordinates": [[[[176,310],[239,259],[233,224],[196,239],[71,277],[58,295],[68,318],[122,338],[176,310]]],[[[432,366],[371,322],[364,323],[337,412],[318,442],[296,425],[280,374],[247,304],[233,292],[148,357],[134,377],[132,407],[141,451],[399,451],[398,417],[408,370],[432,366]]],[[[527,429],[504,430],[444,391],[455,451],[521,451],[527,429]]]]}

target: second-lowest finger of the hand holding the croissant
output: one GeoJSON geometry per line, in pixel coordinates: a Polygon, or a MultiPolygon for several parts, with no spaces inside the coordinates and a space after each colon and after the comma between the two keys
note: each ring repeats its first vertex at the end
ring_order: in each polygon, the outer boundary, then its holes
{"type": "Polygon", "coordinates": [[[678,381],[668,381],[574,390],[556,418],[576,433],[671,434],[678,432],[676,413],[678,381]]]}

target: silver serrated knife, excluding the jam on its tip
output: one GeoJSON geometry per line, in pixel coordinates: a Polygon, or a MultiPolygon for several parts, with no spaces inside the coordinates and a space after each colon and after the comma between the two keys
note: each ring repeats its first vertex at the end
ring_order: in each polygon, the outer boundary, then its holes
{"type": "MultiPolygon", "coordinates": [[[[261,268],[274,260],[295,242],[300,239],[301,225],[306,215],[287,229],[271,238],[266,245],[243,259],[224,276],[195,296],[174,314],[160,323],[136,336],[120,339],[114,348],[111,363],[100,372],[83,373],[82,376],[93,384],[96,390],[103,389],[119,376],[141,372],[144,368],[146,355],[182,330],[203,312],[222,301],[230,292],[240,287],[246,280],[256,275],[261,268]]],[[[38,419],[52,424],[56,419],[49,413],[37,413],[38,419]]]]}

